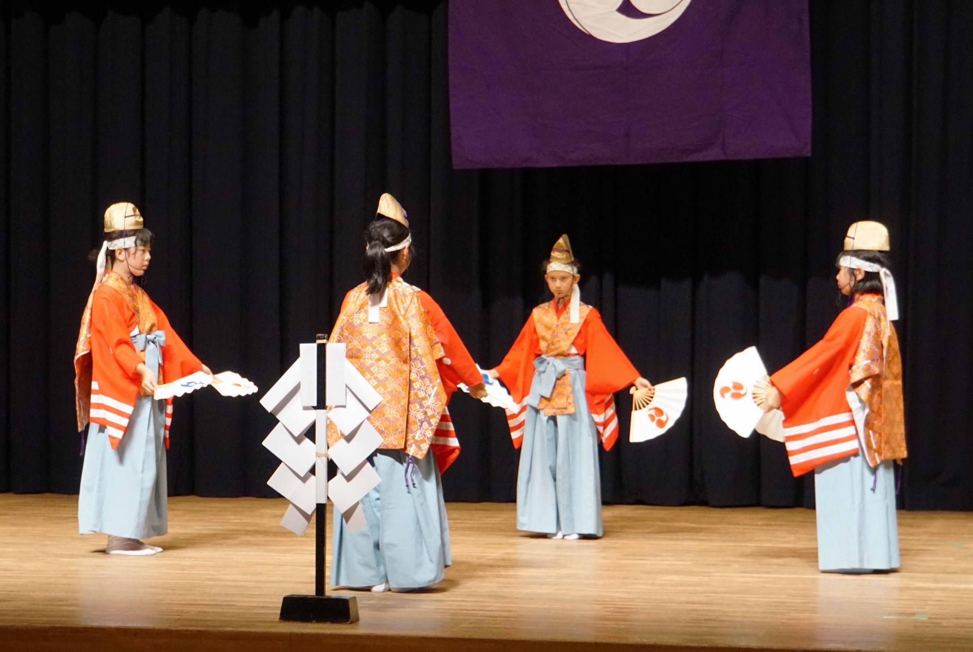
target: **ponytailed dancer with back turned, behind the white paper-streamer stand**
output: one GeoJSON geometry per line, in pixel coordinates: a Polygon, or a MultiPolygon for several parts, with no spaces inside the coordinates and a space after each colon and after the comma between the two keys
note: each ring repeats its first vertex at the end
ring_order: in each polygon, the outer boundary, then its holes
{"type": "MultiPolygon", "coordinates": [[[[412,235],[406,211],[387,193],[365,243],[366,282],[345,295],[329,341],[346,345],[347,359],[381,396],[368,417],[383,439],[370,458],[381,483],[361,500],[367,526],[351,534],[335,512],[331,583],[412,591],[442,581],[451,562],[440,474],[459,446],[447,403],[459,382],[474,398],[486,388],[442,308],[402,280],[412,235]]],[[[329,422],[329,445],[340,436],[329,422]]]]}

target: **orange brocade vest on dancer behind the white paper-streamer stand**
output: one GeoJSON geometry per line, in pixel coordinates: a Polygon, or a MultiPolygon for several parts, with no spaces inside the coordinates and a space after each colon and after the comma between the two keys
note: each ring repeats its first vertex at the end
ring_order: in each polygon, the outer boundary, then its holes
{"type": "MultiPolygon", "coordinates": [[[[422,458],[448,398],[436,366],[443,346],[417,288],[393,276],[386,286],[387,306],[378,309],[378,323],[370,323],[367,287],[362,283],[348,293],[329,341],[345,344],[348,361],[381,396],[368,417],[382,437],[378,448],[422,458]]],[[[329,445],[340,437],[329,421],[329,445]]]]}

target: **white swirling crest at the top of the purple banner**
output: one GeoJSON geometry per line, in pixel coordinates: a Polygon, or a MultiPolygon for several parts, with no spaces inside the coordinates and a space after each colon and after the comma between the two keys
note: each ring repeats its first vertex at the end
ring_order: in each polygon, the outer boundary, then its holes
{"type": "Polygon", "coordinates": [[[682,16],[692,0],[559,0],[574,26],[609,43],[655,36],[682,16]],[[626,9],[626,12],[622,10],[626,9]]]}

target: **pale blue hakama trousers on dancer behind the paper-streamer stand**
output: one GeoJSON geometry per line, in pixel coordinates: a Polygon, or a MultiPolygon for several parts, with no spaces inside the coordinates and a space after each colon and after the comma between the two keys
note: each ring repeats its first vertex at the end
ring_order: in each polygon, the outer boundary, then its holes
{"type": "Polygon", "coordinates": [[[450,523],[436,456],[416,459],[407,484],[408,459],[402,451],[385,450],[371,457],[381,483],[361,500],[368,525],[351,534],[335,511],[333,586],[364,588],[387,581],[392,589],[419,589],[443,580],[452,563],[450,523]]]}

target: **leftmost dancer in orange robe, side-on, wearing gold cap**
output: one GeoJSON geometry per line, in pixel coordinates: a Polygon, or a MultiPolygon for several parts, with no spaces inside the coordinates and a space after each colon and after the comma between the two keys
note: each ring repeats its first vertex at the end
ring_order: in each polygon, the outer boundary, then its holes
{"type": "Polygon", "coordinates": [[[107,534],[109,555],[155,555],[162,548],[141,539],[168,530],[165,450],[172,399],[152,395],[163,376],[212,372],[135,283],[149,268],[153,240],[138,209],[112,204],[104,231],[74,356],[78,429],[88,427],[78,527],[82,534],[107,534]]]}

